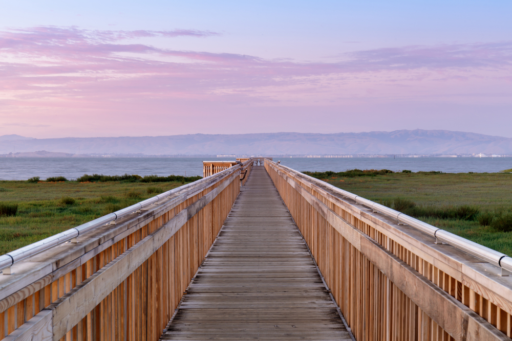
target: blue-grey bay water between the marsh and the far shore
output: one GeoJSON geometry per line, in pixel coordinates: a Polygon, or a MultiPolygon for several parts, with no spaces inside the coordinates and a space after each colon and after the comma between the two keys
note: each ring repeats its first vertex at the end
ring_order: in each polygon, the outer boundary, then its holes
{"type": "MultiPolygon", "coordinates": [[[[65,176],[76,179],[83,174],[121,175],[203,175],[203,161],[223,161],[229,157],[155,158],[0,158],[0,180],[46,179],[65,176]]],[[[274,157],[274,161],[298,171],[345,171],[348,169],[391,169],[401,171],[442,171],[447,173],[499,172],[512,168],[512,157],[353,157],[303,158],[274,157]]]]}

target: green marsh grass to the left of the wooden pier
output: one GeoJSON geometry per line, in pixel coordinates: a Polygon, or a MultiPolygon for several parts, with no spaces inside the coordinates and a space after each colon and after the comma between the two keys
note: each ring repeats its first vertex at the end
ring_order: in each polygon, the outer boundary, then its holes
{"type": "Polygon", "coordinates": [[[0,254],[115,212],[184,183],[186,181],[0,181],[0,254]],[[5,214],[9,212],[7,208],[16,205],[15,215],[5,214]]]}

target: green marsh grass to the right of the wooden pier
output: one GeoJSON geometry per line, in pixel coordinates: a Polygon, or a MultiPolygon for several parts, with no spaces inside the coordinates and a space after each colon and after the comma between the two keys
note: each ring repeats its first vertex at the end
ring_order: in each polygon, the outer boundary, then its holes
{"type": "Polygon", "coordinates": [[[512,256],[510,173],[305,173],[512,256]]]}

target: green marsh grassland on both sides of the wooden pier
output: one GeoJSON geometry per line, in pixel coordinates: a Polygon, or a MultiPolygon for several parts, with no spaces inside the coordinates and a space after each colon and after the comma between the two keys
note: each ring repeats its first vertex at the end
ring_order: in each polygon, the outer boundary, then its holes
{"type": "MultiPolygon", "coordinates": [[[[512,256],[511,173],[306,173],[512,256]]],[[[0,181],[0,254],[194,180],[165,179],[0,181]]]]}

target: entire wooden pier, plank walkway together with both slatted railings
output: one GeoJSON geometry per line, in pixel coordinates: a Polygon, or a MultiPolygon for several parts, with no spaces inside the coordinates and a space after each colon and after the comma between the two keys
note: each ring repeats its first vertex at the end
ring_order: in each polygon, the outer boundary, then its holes
{"type": "Polygon", "coordinates": [[[0,256],[0,340],[511,340],[512,257],[242,161],[0,256]]]}

